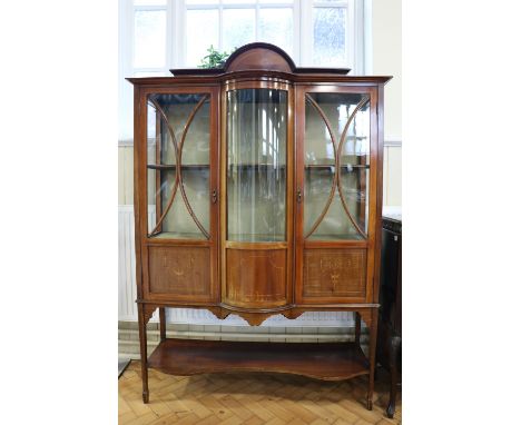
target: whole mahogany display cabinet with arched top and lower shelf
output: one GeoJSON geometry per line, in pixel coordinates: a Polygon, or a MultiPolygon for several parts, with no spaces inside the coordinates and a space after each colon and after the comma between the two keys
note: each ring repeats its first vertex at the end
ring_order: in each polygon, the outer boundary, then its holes
{"type": "Polygon", "coordinates": [[[142,398],[148,367],[368,375],[380,283],[383,87],[389,77],[296,68],[266,43],[222,69],[129,78],[135,86],[136,274],[142,398]],[[351,344],[167,339],[166,307],[272,315],[355,312],[351,344]],[[147,359],[146,324],[161,342],[147,359]],[[360,348],[361,320],[368,356],[360,348]]]}

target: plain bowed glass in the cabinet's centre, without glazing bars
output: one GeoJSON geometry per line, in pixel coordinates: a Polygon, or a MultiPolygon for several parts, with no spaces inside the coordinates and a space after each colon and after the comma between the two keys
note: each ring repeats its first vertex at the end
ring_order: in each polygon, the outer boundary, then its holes
{"type": "Polygon", "coordinates": [[[226,92],[227,239],[286,240],[287,91],[226,92]]]}

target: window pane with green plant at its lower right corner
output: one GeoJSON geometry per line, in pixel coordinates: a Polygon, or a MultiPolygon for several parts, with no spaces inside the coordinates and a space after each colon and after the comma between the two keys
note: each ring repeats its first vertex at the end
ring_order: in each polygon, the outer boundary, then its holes
{"type": "Polygon", "coordinates": [[[219,46],[219,12],[217,9],[186,11],[186,65],[196,67],[208,55],[210,45],[219,46]],[[205,37],[201,36],[204,29],[205,37]]]}

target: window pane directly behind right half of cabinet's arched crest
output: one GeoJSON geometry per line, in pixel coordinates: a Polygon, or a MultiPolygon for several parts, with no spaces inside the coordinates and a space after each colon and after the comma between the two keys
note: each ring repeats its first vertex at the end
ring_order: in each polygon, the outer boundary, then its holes
{"type": "Polygon", "coordinates": [[[293,9],[259,10],[258,40],[278,46],[293,56],[293,9]]]}

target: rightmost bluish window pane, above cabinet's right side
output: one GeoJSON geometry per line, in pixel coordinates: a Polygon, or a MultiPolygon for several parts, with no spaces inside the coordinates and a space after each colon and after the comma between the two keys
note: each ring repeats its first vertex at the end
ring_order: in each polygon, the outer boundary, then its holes
{"type": "Polygon", "coordinates": [[[313,63],[347,66],[345,8],[313,9],[313,63]]]}

